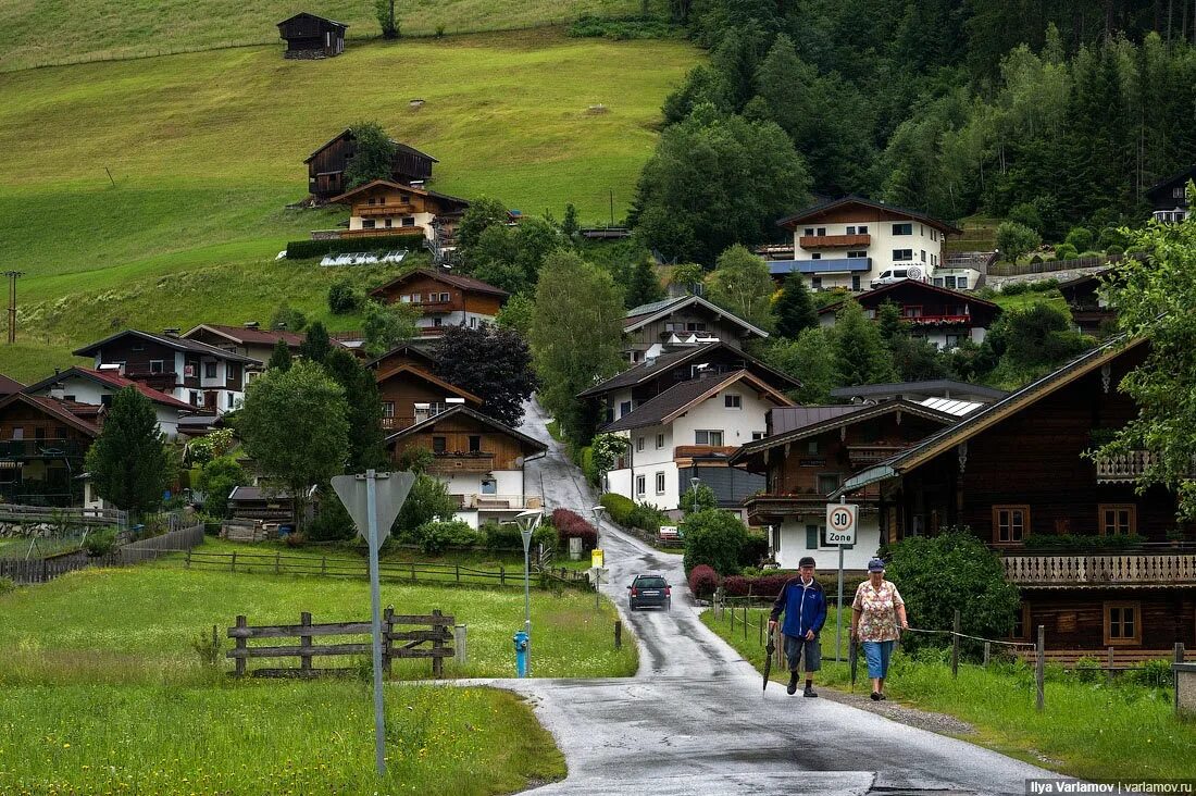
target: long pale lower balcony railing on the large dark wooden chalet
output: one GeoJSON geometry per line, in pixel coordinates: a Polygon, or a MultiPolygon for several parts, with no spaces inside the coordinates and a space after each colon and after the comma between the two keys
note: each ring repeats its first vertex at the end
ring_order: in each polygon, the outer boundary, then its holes
{"type": "Polygon", "coordinates": [[[1196,554],[1007,555],[1005,577],[1024,587],[1196,583],[1196,554]]]}

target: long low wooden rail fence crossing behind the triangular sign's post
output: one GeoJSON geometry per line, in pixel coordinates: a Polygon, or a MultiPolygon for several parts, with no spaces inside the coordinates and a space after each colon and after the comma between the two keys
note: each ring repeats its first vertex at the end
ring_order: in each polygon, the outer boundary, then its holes
{"type": "MultiPolygon", "coordinates": [[[[366,578],[370,565],[364,559],[319,558],[309,555],[283,555],[282,553],[208,553],[188,551],[183,565],[188,569],[222,570],[226,572],[258,572],[273,575],[318,575],[327,577],[366,578]]],[[[498,571],[478,570],[460,564],[428,564],[421,561],[382,561],[378,577],[383,581],[407,583],[437,583],[454,585],[509,585],[523,587],[523,567],[498,571]]],[[[542,570],[533,572],[532,579],[541,587],[557,582],[566,585],[586,587],[584,572],[576,570],[542,570]]]]}

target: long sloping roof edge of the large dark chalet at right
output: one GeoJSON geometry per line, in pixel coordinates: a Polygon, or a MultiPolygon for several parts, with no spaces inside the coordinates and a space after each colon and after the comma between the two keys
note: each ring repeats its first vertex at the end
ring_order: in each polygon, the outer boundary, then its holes
{"type": "Polygon", "coordinates": [[[884,462],[858,473],[848,479],[847,482],[840,487],[838,492],[832,494],[832,497],[838,497],[840,492],[852,492],[867,486],[868,484],[884,481],[902,473],[908,473],[909,470],[930,461],[935,456],[951,450],[959,443],[968,442],[980,432],[996,425],[1001,420],[1033,406],[1042,399],[1051,395],[1063,387],[1067,387],[1075,379],[1099,370],[1103,365],[1112,361],[1127,351],[1145,344],[1146,339],[1127,342],[1124,336],[1119,336],[1103,346],[1080,354],[1062,367],[1043,376],[1026,387],[1023,387],[1015,393],[1011,393],[996,403],[969,415],[948,429],[927,437],[919,444],[903,450],[901,454],[891,456],[884,462]]]}

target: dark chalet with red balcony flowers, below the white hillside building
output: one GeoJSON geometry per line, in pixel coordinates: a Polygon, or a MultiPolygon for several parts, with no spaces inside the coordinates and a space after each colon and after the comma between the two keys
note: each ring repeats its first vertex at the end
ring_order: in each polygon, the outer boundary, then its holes
{"type": "MultiPolygon", "coordinates": [[[[983,342],[988,328],[1001,315],[1001,308],[993,302],[916,279],[883,285],[860,293],[855,300],[873,320],[880,317],[880,305],[885,302],[897,304],[902,320],[911,327],[910,336],[929,340],[944,351],[957,348],[964,340],[983,342]]],[[[835,302],[819,309],[819,323],[835,326],[842,306],[843,302],[835,302]]]]}

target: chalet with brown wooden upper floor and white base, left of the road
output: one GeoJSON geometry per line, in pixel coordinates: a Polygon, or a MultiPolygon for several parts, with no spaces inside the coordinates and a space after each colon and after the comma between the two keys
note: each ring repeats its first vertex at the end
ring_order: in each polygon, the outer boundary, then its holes
{"type": "Polygon", "coordinates": [[[431,451],[428,474],[445,482],[460,505],[457,517],[472,528],[543,508],[539,497],[527,494],[524,464],[548,446],[468,406],[452,406],[396,431],[386,445],[395,462],[411,449],[431,451]]]}

